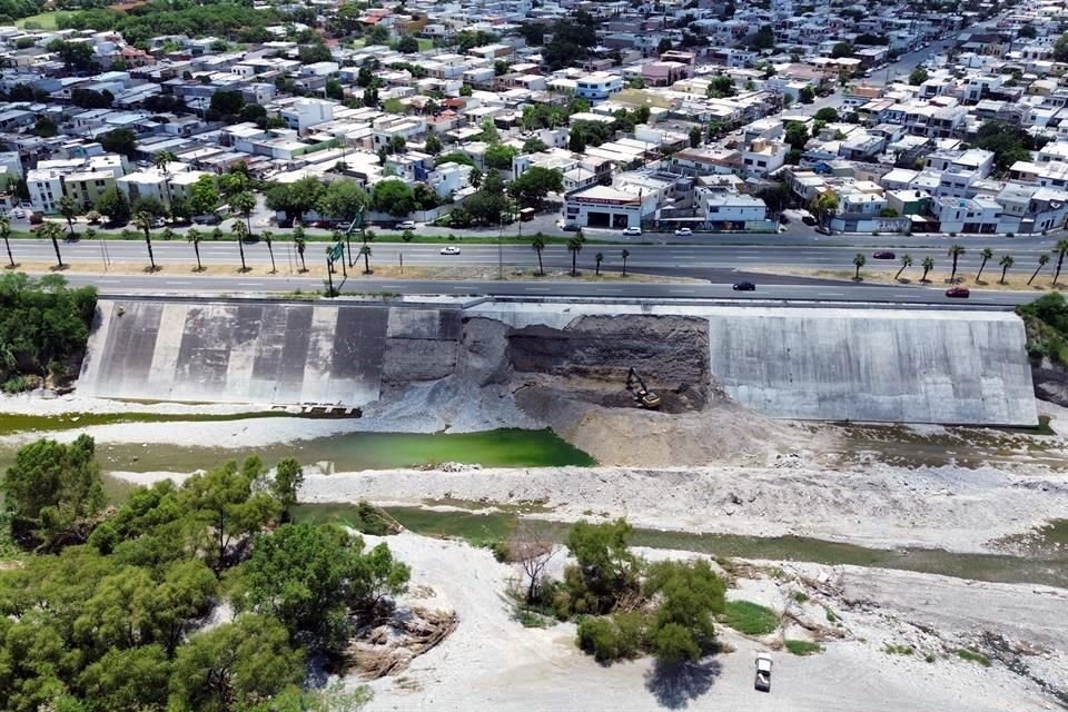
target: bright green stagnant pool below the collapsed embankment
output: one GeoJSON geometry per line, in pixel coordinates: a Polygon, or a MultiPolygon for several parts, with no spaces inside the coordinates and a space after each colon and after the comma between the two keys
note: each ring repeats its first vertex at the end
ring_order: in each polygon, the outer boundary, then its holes
{"type": "MultiPolygon", "coordinates": [[[[206,429],[208,439],[210,429],[206,429]]],[[[42,433],[42,436],[47,436],[42,433]]],[[[97,459],[103,469],[129,472],[191,472],[227,459],[258,455],[273,464],[283,457],[303,463],[328,461],[338,472],[418,467],[445,462],[482,465],[483,467],[548,467],[595,465],[586,453],[563,441],[550,429],[517,428],[483,433],[408,434],[347,433],[261,447],[189,447],[185,445],[148,446],[129,444],[97,445],[97,459]]],[[[13,452],[0,452],[0,467],[13,452]]]]}

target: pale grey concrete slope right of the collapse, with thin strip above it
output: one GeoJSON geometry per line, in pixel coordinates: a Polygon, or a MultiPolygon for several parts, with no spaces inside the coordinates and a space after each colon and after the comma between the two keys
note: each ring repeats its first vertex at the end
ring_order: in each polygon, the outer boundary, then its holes
{"type": "MultiPolygon", "coordinates": [[[[1003,312],[487,303],[514,327],[587,314],[709,320],[712,377],[774,417],[1031,426],[1024,323],[1003,312]]],[[[641,369],[641,364],[635,364],[641,369]]]]}

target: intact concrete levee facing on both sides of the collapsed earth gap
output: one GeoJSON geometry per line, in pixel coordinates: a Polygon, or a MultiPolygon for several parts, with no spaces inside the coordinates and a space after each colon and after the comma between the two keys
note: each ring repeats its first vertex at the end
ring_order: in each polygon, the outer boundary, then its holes
{"type": "Polygon", "coordinates": [[[384,386],[451,375],[465,316],[564,329],[585,315],[627,314],[706,319],[708,354],[686,358],[706,357],[729,395],[770,416],[1037,422],[1024,325],[995,312],[103,299],[78,387],[112,398],[359,407],[384,386]]]}

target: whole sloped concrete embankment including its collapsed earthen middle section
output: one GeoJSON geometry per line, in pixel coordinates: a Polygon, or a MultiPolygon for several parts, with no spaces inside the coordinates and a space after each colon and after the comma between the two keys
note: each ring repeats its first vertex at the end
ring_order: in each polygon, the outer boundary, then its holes
{"type": "Polygon", "coordinates": [[[98,397],[366,406],[418,389],[473,409],[516,396],[527,413],[632,408],[633,366],[664,396],[664,418],[738,402],[783,418],[1037,419],[1024,327],[1003,313],[492,300],[99,309],[79,382],[98,397]]]}

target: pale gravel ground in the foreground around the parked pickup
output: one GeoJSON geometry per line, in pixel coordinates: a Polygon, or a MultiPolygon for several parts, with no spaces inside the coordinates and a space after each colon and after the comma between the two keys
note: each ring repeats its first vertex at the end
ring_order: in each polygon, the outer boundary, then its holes
{"type": "MultiPolygon", "coordinates": [[[[756,652],[769,651],[768,643],[774,644],[773,640],[750,640],[721,629],[735,652],[681,672],[656,670],[649,660],[602,666],[574,647],[573,625],[528,630],[512,620],[503,592],[516,572],[496,563],[487,551],[411,534],[390,537],[388,543],[413,567],[413,587],[421,591],[417,603],[456,611],[459,626],[400,676],[373,682],[375,699],[369,710],[1050,709],[1050,699],[1035,683],[1000,663],[981,668],[946,652],[927,663],[919,655],[881,652],[886,642],[916,630],[913,623],[893,612],[892,600],[902,591],[914,590],[918,582],[899,580],[893,572],[880,572],[888,582],[880,596],[890,604],[880,613],[853,613],[840,606],[843,627],[849,631],[844,641],[828,642],[825,652],[808,657],[771,652],[773,688],[764,694],[753,690],[753,659],[756,652]],[[426,597],[423,586],[433,589],[434,595],[426,597]],[[848,702],[829,706],[830,700],[848,702]]],[[[831,570],[823,573],[827,577],[835,574],[831,570]]],[[[846,580],[851,574],[844,572],[846,580]]],[[[934,577],[923,578],[919,583],[934,577]]],[[[967,591],[980,607],[988,600],[986,586],[975,589],[951,580],[940,583],[947,586],[947,593],[967,591]]],[[[787,587],[794,584],[742,581],[740,585],[751,600],[761,600],[760,592],[765,599],[779,595],[785,600],[787,587]]],[[[1002,590],[1045,602],[1045,607],[1032,612],[1036,617],[1056,616],[1060,601],[1031,594],[1027,587],[1001,587],[991,595],[1000,600],[1002,590]]],[[[780,610],[783,607],[785,604],[780,605],[780,610]]],[[[967,633],[940,631],[931,635],[930,646],[933,650],[937,639],[942,647],[952,647],[967,633]]]]}

